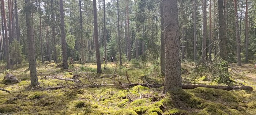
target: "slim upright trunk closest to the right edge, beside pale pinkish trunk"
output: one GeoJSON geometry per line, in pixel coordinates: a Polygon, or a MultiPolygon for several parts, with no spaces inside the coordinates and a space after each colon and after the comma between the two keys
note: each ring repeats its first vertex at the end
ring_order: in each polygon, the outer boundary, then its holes
{"type": "Polygon", "coordinates": [[[245,0],[245,62],[248,62],[248,37],[249,37],[249,27],[248,27],[248,0],[245,0]]]}

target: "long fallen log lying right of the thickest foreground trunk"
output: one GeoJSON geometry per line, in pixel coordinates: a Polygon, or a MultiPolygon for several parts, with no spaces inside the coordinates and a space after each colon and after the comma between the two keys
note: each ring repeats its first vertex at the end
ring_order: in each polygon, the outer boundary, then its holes
{"type": "Polygon", "coordinates": [[[252,91],[251,86],[220,86],[220,85],[192,85],[192,84],[183,84],[182,89],[195,89],[198,87],[205,87],[205,88],[214,88],[214,89],[223,89],[223,90],[248,90],[252,91]]]}

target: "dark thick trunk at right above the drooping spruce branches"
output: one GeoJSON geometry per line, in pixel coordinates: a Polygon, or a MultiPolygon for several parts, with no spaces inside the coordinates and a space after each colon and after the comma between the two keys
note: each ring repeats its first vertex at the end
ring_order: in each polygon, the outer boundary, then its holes
{"type": "Polygon", "coordinates": [[[218,23],[219,23],[219,56],[223,60],[227,60],[226,48],[226,23],[223,14],[223,0],[218,0],[218,23]]]}

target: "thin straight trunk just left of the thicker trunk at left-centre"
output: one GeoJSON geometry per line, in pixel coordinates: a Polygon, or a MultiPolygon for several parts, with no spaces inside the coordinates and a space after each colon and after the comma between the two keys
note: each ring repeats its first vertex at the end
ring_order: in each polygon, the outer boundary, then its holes
{"type": "Polygon", "coordinates": [[[53,52],[53,61],[55,63],[58,63],[57,60],[57,49],[56,49],[56,38],[55,38],[55,18],[54,18],[54,11],[53,11],[53,0],[51,0],[51,18],[52,18],[52,39],[53,39],[53,44],[54,44],[54,52],[53,52]]]}

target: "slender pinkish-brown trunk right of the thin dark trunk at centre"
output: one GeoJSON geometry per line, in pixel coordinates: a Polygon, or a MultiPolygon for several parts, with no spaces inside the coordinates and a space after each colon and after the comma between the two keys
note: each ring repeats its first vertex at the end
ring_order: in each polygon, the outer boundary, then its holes
{"type": "Polygon", "coordinates": [[[130,39],[130,28],[129,28],[129,7],[128,0],[126,0],[126,14],[127,14],[127,41],[128,41],[128,60],[131,61],[131,39],[130,39]]]}

